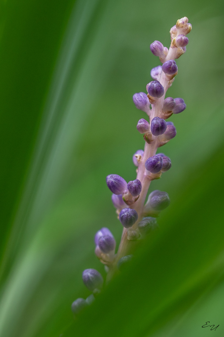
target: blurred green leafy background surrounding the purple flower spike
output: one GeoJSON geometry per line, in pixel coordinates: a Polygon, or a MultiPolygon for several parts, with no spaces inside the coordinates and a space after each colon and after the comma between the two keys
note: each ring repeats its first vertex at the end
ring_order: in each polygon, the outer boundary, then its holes
{"type": "Polygon", "coordinates": [[[0,336],[223,336],[223,2],[0,7],[0,336]],[[145,114],[132,95],[160,64],[150,43],[169,47],[183,16],[192,31],[167,95],[187,108],[162,148],[172,169],[150,187],[171,205],[133,265],[74,321],[71,303],[90,295],[82,271],[105,277],[95,232],[121,237],[105,177],[136,177],[145,114]]]}

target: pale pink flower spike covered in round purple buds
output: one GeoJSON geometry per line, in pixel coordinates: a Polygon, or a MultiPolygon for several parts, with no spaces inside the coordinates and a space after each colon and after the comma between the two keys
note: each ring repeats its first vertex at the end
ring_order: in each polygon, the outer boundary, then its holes
{"type": "MultiPolygon", "coordinates": [[[[172,85],[178,73],[175,59],[186,52],[191,24],[186,17],[177,20],[170,30],[171,45],[168,49],[160,41],[150,45],[153,55],[162,62],[151,69],[153,81],[146,85],[146,91],[133,95],[137,109],[144,111],[149,120],[141,118],[137,123],[137,130],[143,134],[145,147],[137,150],[133,155],[133,162],[137,166],[137,177],[128,183],[117,174],[106,177],[106,184],[113,193],[111,200],[118,218],[123,225],[123,234],[115,254],[116,242],[108,228],[101,228],[95,235],[95,254],[105,265],[108,275],[113,276],[116,270],[122,270],[132,259],[130,243],[143,239],[154,231],[158,225],[156,218],[160,212],[170,204],[167,192],[154,190],[146,200],[149,185],[152,180],[159,179],[162,173],[171,168],[171,160],[164,153],[157,153],[159,147],[168,143],[176,136],[176,128],[172,122],[167,122],[173,114],[184,111],[186,104],[182,98],[165,98],[168,88],[172,85]]],[[[93,292],[86,300],[77,299],[72,304],[74,313],[92,302],[103,286],[103,278],[95,269],[83,272],[83,282],[93,292]]]]}

